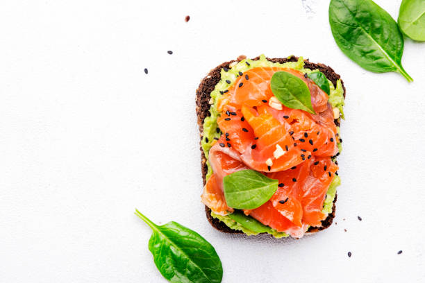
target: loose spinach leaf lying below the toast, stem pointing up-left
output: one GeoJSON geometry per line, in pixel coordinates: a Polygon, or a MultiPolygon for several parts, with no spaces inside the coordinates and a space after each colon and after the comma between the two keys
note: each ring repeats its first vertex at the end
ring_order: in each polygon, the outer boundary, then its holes
{"type": "Polygon", "coordinates": [[[174,221],[156,225],[138,209],[135,214],[152,228],[149,250],[165,279],[170,282],[222,282],[222,261],[201,235],[174,221]]]}

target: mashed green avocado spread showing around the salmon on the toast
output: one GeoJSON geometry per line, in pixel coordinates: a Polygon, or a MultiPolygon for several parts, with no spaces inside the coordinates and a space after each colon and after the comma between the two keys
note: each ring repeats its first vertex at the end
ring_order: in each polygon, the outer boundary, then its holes
{"type": "MultiPolygon", "coordinates": [[[[310,74],[313,71],[312,69],[304,68],[304,60],[302,57],[298,59],[296,62],[285,62],[283,64],[281,63],[274,63],[270,62],[265,58],[265,55],[260,55],[259,60],[251,60],[251,59],[244,59],[238,64],[233,65],[228,71],[222,71],[220,72],[221,79],[217,85],[215,85],[215,89],[213,92],[211,92],[210,96],[212,98],[212,101],[210,103],[210,116],[206,117],[203,121],[203,138],[201,140],[201,146],[203,149],[203,153],[206,157],[206,163],[208,166],[208,173],[206,175],[206,180],[210,178],[210,176],[213,174],[213,169],[211,169],[210,162],[208,160],[208,152],[210,151],[211,146],[213,146],[215,139],[214,137],[219,138],[221,135],[221,131],[218,128],[217,125],[217,116],[219,115],[219,112],[217,111],[217,99],[219,98],[220,91],[225,91],[233,85],[236,78],[238,77],[239,72],[244,72],[249,69],[253,69],[256,67],[286,67],[290,69],[296,69],[298,71],[301,71],[303,74],[310,74]],[[231,84],[226,83],[226,80],[230,80],[231,84]],[[208,141],[208,142],[207,142],[208,141]]],[[[336,85],[333,85],[331,80],[329,80],[329,87],[330,87],[330,94],[328,102],[331,104],[333,108],[338,108],[340,110],[340,114],[342,119],[344,119],[344,89],[342,89],[341,80],[337,80],[336,85]]],[[[338,128],[338,133],[339,133],[338,128]]],[[[342,151],[342,145],[340,142],[338,142],[338,148],[340,152],[342,151]]],[[[335,175],[333,178],[331,185],[328,188],[326,199],[324,201],[324,208],[322,212],[325,214],[329,214],[332,212],[333,207],[333,200],[335,199],[336,195],[336,188],[341,184],[341,179],[338,175],[335,175]]],[[[276,238],[281,237],[288,237],[288,234],[285,232],[277,232],[276,230],[270,228],[267,225],[264,225],[263,223],[260,223],[256,219],[252,218],[251,216],[246,216],[243,212],[239,210],[235,210],[233,214],[228,214],[226,216],[217,215],[214,212],[211,212],[211,216],[218,218],[220,221],[225,223],[229,228],[233,230],[240,230],[244,232],[247,235],[256,235],[260,233],[268,233],[272,234],[276,238]]]]}

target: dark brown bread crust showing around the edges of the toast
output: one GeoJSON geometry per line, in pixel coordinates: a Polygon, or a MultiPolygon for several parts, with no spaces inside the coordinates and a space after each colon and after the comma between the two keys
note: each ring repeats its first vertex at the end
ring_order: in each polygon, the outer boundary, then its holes
{"type": "MultiPolygon", "coordinates": [[[[253,58],[253,60],[258,60],[259,57],[253,58]]],[[[272,62],[279,62],[279,63],[285,63],[285,62],[296,62],[298,60],[298,57],[292,56],[290,58],[267,58],[267,60],[272,62]]],[[[202,139],[202,132],[203,132],[203,120],[210,116],[210,94],[213,92],[215,85],[220,80],[220,71],[222,68],[227,67],[229,68],[229,65],[232,62],[235,62],[238,60],[231,60],[228,62],[224,62],[221,65],[218,65],[214,69],[208,73],[208,75],[201,80],[201,83],[199,84],[199,87],[197,88],[197,96],[196,96],[196,103],[197,103],[197,117],[198,117],[198,126],[199,126],[199,132],[201,133],[201,139],[202,139]]],[[[340,79],[340,75],[336,74],[335,71],[331,67],[328,67],[321,63],[312,63],[309,62],[308,59],[304,60],[304,67],[308,69],[319,69],[326,78],[331,80],[333,85],[336,85],[337,80],[340,79]]],[[[342,88],[344,89],[344,97],[345,97],[345,87],[344,82],[341,80],[342,88]]],[[[340,119],[335,120],[335,124],[337,126],[340,126],[340,119]]],[[[203,178],[203,185],[206,183],[206,174],[208,171],[207,165],[206,165],[206,157],[203,154],[202,147],[201,149],[201,169],[202,169],[202,178],[203,178]]],[[[333,222],[333,218],[335,218],[335,202],[337,200],[337,196],[335,196],[335,199],[333,200],[333,207],[332,207],[332,213],[328,215],[328,217],[322,221],[321,227],[310,227],[307,231],[307,233],[314,233],[318,232],[320,230],[324,230],[331,226],[333,222]]],[[[211,209],[209,209],[207,206],[205,207],[206,216],[208,218],[208,221],[210,222],[213,227],[219,231],[225,232],[225,233],[243,233],[239,230],[233,230],[231,228],[228,228],[226,224],[224,224],[222,221],[219,221],[217,218],[214,218],[211,216],[211,209]]]]}

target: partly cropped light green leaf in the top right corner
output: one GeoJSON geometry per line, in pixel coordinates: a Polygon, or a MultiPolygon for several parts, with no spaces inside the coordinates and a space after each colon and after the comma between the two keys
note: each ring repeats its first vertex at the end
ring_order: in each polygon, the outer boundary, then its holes
{"type": "Polygon", "coordinates": [[[425,1],[403,0],[398,22],[401,31],[412,40],[425,41],[425,1]]]}

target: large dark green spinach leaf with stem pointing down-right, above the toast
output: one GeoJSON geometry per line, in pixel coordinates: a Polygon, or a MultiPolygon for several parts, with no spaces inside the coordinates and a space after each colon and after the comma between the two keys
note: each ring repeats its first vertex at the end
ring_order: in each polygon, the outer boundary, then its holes
{"type": "Polygon", "coordinates": [[[397,71],[401,66],[403,35],[390,14],[372,0],[331,0],[329,24],[335,42],[351,60],[368,71],[397,71]]]}

